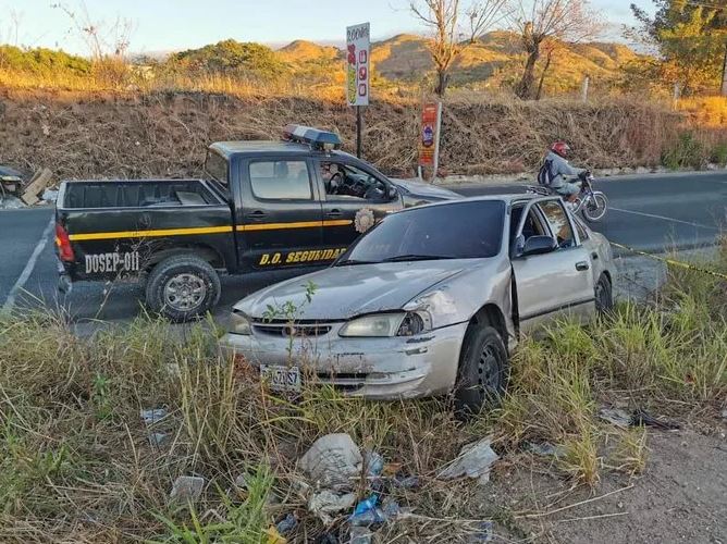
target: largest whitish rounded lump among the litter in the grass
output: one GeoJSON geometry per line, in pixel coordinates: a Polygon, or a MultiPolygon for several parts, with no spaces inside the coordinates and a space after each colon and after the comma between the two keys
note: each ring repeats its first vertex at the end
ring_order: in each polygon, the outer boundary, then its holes
{"type": "Polygon", "coordinates": [[[300,468],[321,487],[350,489],[361,473],[364,458],[348,434],[326,434],[318,438],[300,458],[300,468]]]}

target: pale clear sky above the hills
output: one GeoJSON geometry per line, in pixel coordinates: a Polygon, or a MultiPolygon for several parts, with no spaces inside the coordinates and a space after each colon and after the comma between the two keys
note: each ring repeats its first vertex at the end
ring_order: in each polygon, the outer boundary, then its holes
{"type": "MultiPolygon", "coordinates": [[[[651,8],[650,0],[591,0],[611,23],[605,39],[618,39],[620,26],[632,23],[631,1],[651,8]]],[[[119,18],[128,21],[135,53],[190,49],[226,38],[273,47],[295,39],[340,44],[347,25],[366,21],[374,40],[423,32],[407,10],[408,0],[0,0],[0,42],[86,54],[71,17],[52,7],[59,2],[79,21],[87,12],[109,36],[119,18]]]]}

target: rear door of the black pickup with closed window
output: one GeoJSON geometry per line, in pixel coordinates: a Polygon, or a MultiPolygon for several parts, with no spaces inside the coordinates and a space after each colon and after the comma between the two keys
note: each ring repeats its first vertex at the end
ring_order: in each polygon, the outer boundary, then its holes
{"type": "Polygon", "coordinates": [[[237,240],[243,269],[321,264],[321,201],[306,158],[242,161],[237,240]]]}

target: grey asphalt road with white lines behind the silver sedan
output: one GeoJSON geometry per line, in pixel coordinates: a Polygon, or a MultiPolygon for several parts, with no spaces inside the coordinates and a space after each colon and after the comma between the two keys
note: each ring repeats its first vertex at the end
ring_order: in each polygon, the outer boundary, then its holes
{"type": "MultiPolygon", "coordinates": [[[[613,242],[648,250],[687,249],[714,244],[727,226],[727,173],[629,176],[596,183],[611,200],[595,228],[613,242]]],[[[457,185],[466,196],[522,191],[522,185],[457,185]]],[[[63,308],[77,320],[126,320],[138,314],[141,289],[135,285],[77,284],[69,297],[56,294],[51,209],[0,211],[0,305],[42,304],[63,308]],[[45,245],[44,245],[45,242],[45,245]]],[[[289,272],[223,279],[222,316],[246,294],[289,272]]]]}

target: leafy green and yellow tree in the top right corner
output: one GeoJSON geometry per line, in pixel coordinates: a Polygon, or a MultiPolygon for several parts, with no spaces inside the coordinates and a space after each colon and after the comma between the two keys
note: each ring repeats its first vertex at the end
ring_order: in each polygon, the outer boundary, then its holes
{"type": "Polygon", "coordinates": [[[653,17],[631,5],[640,24],[631,30],[658,49],[660,78],[679,83],[686,94],[718,88],[727,42],[727,0],[653,2],[653,17]]]}

